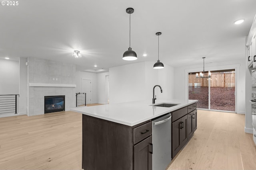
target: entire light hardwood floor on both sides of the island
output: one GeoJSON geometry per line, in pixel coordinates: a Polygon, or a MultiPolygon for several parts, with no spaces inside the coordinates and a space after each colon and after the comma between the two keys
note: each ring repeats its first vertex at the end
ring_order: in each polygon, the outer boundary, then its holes
{"type": "MultiPolygon", "coordinates": [[[[168,170],[256,170],[244,115],[198,110],[198,129],[168,170]]],[[[72,111],[0,118],[0,170],[80,170],[82,115],[72,111]]]]}

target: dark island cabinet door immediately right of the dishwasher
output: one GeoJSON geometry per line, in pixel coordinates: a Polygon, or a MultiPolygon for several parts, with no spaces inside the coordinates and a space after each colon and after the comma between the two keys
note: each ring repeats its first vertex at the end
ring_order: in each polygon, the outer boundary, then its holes
{"type": "Polygon", "coordinates": [[[181,118],[172,123],[172,158],[180,151],[181,118]]]}

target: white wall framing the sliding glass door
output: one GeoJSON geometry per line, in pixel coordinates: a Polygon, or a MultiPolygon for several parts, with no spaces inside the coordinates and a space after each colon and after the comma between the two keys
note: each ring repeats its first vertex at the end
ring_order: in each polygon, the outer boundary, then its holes
{"type": "MultiPolygon", "coordinates": [[[[236,70],[236,95],[237,95],[237,113],[245,113],[245,63],[244,59],[239,61],[229,61],[222,63],[209,63],[205,65],[205,70],[222,70],[230,69],[232,67],[238,66],[236,70]]],[[[177,99],[186,99],[187,97],[187,71],[199,72],[202,71],[202,65],[195,66],[184,66],[174,68],[174,97],[177,99]],[[186,85],[186,86],[185,86],[186,85]]]]}

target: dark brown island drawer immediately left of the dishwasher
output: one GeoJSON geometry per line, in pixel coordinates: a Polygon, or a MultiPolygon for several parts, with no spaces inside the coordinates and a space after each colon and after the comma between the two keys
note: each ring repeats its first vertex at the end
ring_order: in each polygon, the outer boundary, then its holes
{"type": "Polygon", "coordinates": [[[151,121],[133,129],[133,143],[138,143],[150,135],[152,135],[151,121]]]}

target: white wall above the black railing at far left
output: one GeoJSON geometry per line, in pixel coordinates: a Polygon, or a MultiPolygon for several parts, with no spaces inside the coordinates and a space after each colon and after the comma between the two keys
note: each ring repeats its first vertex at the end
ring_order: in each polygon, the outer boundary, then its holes
{"type": "Polygon", "coordinates": [[[19,94],[19,62],[0,59],[0,94],[19,94]]]}

